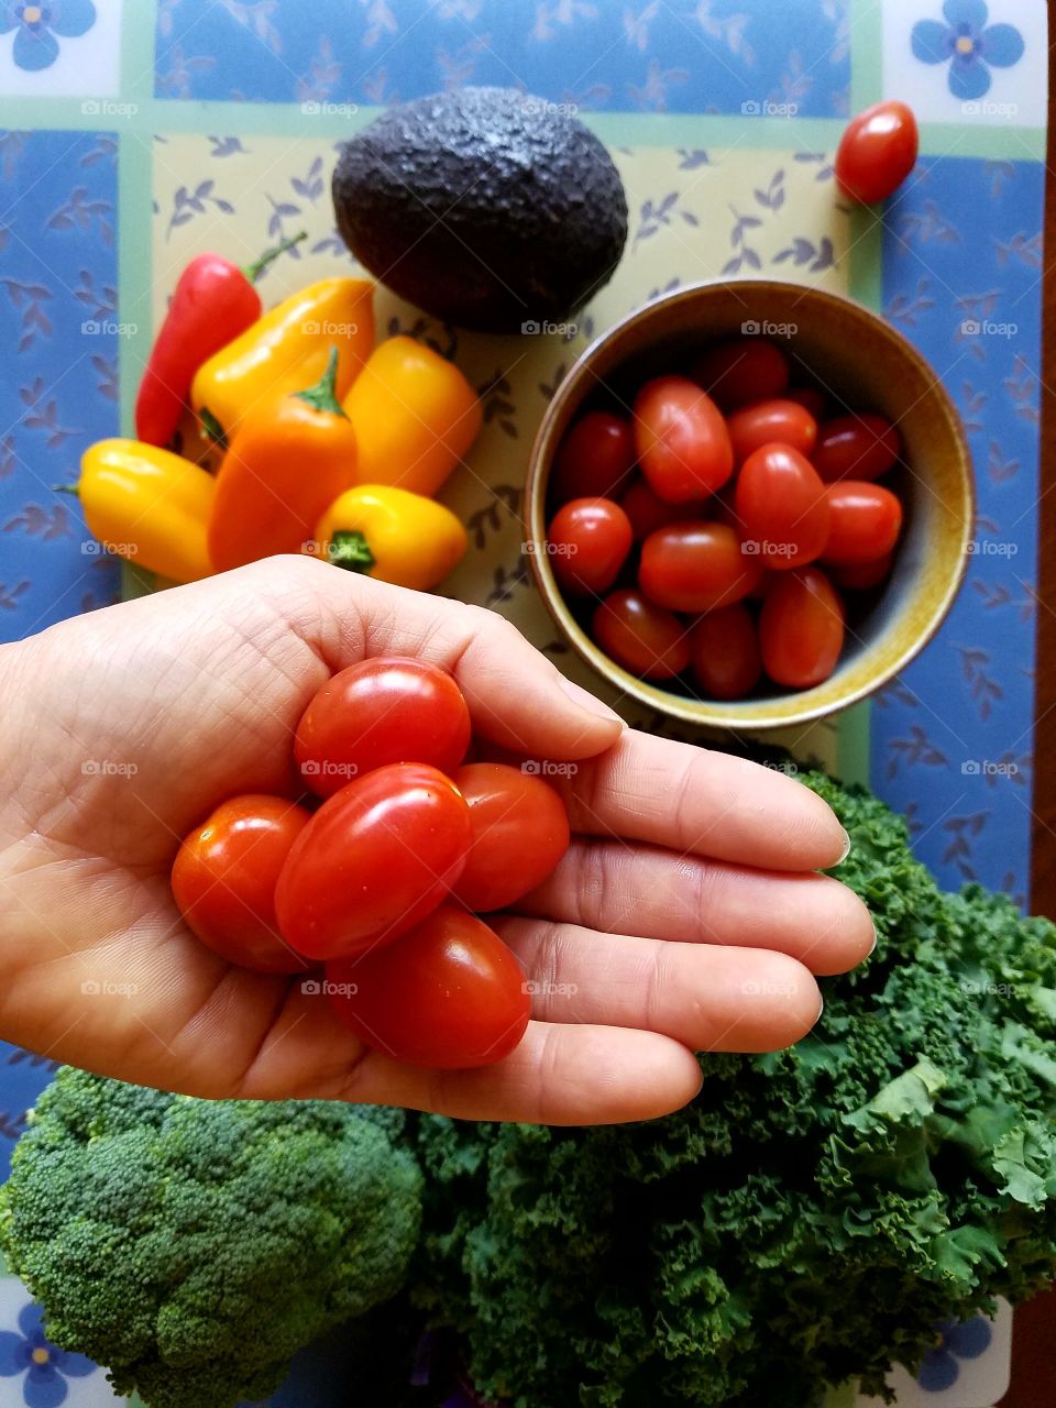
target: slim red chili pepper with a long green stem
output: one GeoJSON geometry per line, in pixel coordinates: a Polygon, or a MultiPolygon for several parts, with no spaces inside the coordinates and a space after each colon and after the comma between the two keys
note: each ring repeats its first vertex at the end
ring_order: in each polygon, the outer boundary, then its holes
{"type": "Polygon", "coordinates": [[[138,439],[169,444],[197,369],[260,317],[253,280],[272,259],[306,238],[307,231],[301,231],[283,239],[246,269],[220,255],[191,259],[179,277],[135,398],[138,439]]]}

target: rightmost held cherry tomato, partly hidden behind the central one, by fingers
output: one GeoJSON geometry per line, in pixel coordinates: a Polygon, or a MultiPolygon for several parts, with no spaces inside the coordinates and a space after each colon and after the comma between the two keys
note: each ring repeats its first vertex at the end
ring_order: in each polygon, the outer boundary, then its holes
{"type": "Polygon", "coordinates": [[[467,910],[503,910],[542,884],[569,849],[565,803],[542,777],[505,763],[459,767],[455,786],[472,842],[452,893],[467,910]]]}

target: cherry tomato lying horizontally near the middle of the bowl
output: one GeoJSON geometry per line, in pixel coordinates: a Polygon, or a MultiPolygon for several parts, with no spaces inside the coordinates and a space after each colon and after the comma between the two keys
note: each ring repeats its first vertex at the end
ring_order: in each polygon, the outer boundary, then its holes
{"type": "Polygon", "coordinates": [[[669,611],[714,611],[746,597],[760,574],[727,524],[694,521],[658,528],[642,543],[638,586],[669,611]]]}

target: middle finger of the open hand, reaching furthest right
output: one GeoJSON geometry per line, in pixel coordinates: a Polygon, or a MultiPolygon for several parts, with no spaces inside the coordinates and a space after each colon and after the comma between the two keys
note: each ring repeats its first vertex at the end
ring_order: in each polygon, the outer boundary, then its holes
{"type": "Polygon", "coordinates": [[[605,934],[779,949],[812,973],[846,973],[874,939],[866,905],[831,876],[755,870],[614,841],[573,841],[515,910],[605,934]]]}

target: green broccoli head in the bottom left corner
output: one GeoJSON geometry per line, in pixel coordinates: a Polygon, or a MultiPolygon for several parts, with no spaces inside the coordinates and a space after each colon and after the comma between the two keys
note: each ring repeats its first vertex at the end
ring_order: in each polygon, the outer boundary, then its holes
{"type": "Polygon", "coordinates": [[[403,1118],[63,1067],[0,1188],[0,1245],[52,1339],[108,1366],[117,1393],[263,1398],[296,1350],[403,1284],[421,1218],[403,1118]]]}

